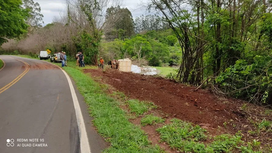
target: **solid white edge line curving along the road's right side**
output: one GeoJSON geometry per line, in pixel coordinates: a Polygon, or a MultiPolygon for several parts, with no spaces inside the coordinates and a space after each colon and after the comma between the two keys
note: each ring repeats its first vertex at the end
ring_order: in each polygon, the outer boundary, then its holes
{"type": "MultiPolygon", "coordinates": [[[[21,57],[21,58],[24,58],[24,57],[21,57]]],[[[37,59],[32,59],[32,60],[37,60],[37,59]]],[[[43,60],[39,60],[39,61],[43,61],[43,60]]],[[[43,61],[43,62],[50,63],[48,61],[43,61]]],[[[50,64],[52,64],[52,63],[50,63],[50,64]]],[[[55,65],[55,64],[53,64],[53,65],[55,65]]],[[[55,66],[59,67],[58,65],[55,65],[55,66]]],[[[80,106],[78,103],[78,97],[74,91],[74,86],[73,86],[68,74],[61,67],[59,67],[59,68],[61,71],[63,71],[64,75],[67,78],[69,86],[70,86],[70,90],[71,90],[71,94],[72,94],[72,98],[73,98],[73,102],[74,102],[74,110],[76,113],[77,123],[78,123],[78,133],[79,133],[81,153],[91,153],[91,148],[89,145],[89,139],[88,139],[88,135],[87,135],[86,128],[85,128],[84,119],[83,119],[82,112],[81,112],[81,109],[80,109],[80,106]]]]}

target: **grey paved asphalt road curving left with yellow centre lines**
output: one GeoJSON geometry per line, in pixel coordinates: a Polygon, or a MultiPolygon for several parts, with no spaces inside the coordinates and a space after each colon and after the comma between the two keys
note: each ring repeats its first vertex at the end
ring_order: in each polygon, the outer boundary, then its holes
{"type": "MultiPolygon", "coordinates": [[[[0,71],[0,152],[80,153],[74,103],[63,71],[41,60],[5,55],[0,58],[5,62],[5,67],[0,71]],[[22,73],[25,75],[22,76],[22,73]],[[20,75],[22,77],[18,80],[20,75]],[[13,82],[12,86],[1,90],[10,82],[13,82]],[[7,146],[12,144],[7,139],[14,140],[13,147],[7,146]],[[18,139],[27,141],[20,142],[22,140],[18,139]],[[38,139],[39,142],[30,142],[29,139],[38,139]],[[33,147],[33,144],[37,146],[33,147]]],[[[84,118],[91,153],[100,152],[106,148],[106,144],[92,126],[83,97],[72,83],[84,118]]]]}

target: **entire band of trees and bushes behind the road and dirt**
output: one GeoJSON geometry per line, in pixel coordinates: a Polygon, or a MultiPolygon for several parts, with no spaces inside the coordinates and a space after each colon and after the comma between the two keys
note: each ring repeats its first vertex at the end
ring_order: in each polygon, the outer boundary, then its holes
{"type": "Polygon", "coordinates": [[[85,63],[93,65],[100,56],[106,62],[130,58],[132,64],[158,67],[162,76],[219,96],[272,104],[270,1],[150,0],[142,8],[162,16],[134,19],[121,1],[111,2],[66,1],[61,17],[44,27],[38,3],[3,2],[3,19],[20,22],[1,22],[0,54],[16,50],[36,56],[50,49],[74,58],[82,51],[88,55],[85,63]],[[172,72],[169,66],[179,68],[172,72]]]}

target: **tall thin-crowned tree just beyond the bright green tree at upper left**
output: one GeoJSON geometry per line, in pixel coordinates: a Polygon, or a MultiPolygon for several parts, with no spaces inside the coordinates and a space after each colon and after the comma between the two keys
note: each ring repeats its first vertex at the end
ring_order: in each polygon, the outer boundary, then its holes
{"type": "Polygon", "coordinates": [[[26,23],[29,25],[28,33],[32,33],[37,28],[42,27],[44,23],[42,21],[43,15],[41,14],[41,7],[38,2],[33,0],[23,0],[23,6],[27,9],[29,16],[26,20],[26,23]]]}

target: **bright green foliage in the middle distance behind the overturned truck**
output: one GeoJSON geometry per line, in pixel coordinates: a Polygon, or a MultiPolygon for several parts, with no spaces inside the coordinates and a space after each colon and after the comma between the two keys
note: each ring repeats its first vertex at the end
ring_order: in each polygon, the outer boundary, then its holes
{"type": "Polygon", "coordinates": [[[103,51],[100,54],[105,60],[130,57],[139,61],[137,63],[139,65],[169,65],[169,62],[179,63],[181,49],[176,43],[177,39],[171,29],[148,31],[146,34],[138,34],[129,39],[105,41],[103,42],[103,51]],[[147,63],[141,59],[144,59],[147,63]]]}

